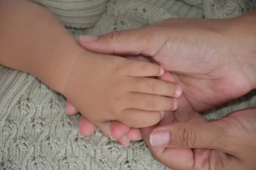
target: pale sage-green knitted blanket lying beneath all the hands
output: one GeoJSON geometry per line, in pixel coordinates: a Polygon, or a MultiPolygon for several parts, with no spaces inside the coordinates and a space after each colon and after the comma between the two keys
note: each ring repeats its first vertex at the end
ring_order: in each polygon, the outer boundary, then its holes
{"type": "MultiPolygon", "coordinates": [[[[255,0],[34,0],[78,37],[136,28],[169,17],[227,18],[255,9],[255,0]],[[71,28],[72,27],[72,28],[71,28]],[[89,28],[90,27],[90,28],[89,28]]],[[[1,55],[1,54],[0,54],[1,55]]],[[[256,106],[256,92],[206,112],[207,118],[256,106]]],[[[0,66],[1,170],[167,170],[143,141],[125,149],[98,130],[78,135],[79,116],[35,77],[0,66]]]]}

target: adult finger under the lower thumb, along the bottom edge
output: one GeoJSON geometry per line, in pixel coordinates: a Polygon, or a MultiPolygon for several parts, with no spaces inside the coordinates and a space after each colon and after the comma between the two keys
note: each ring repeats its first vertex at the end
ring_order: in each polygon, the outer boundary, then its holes
{"type": "MultiPolygon", "coordinates": [[[[244,169],[239,159],[225,153],[219,153],[217,160],[211,159],[208,162],[207,160],[209,160],[212,150],[154,147],[150,144],[149,140],[151,130],[154,128],[142,128],[141,133],[143,139],[154,158],[172,170],[208,170],[210,167],[216,170],[244,169]],[[224,160],[225,163],[223,164],[224,160]]],[[[217,152],[215,150],[215,153],[217,152]]]]}

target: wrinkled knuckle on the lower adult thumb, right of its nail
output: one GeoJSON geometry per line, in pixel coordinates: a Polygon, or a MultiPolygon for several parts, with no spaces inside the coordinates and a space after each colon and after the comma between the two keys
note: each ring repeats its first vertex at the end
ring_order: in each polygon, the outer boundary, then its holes
{"type": "Polygon", "coordinates": [[[181,126],[177,130],[176,141],[180,147],[193,147],[195,144],[195,133],[186,126],[181,126]]]}

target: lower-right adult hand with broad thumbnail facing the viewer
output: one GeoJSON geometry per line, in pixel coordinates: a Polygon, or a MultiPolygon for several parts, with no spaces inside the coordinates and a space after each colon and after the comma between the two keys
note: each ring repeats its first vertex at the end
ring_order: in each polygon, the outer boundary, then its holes
{"type": "Polygon", "coordinates": [[[166,120],[161,122],[162,126],[141,131],[154,158],[167,167],[173,170],[255,169],[256,108],[234,112],[216,122],[197,122],[197,119],[175,122],[172,117],[166,120]]]}

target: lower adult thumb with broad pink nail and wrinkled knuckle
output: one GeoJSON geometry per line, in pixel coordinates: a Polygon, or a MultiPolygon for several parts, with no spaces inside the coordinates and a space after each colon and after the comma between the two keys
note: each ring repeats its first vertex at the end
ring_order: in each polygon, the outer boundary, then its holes
{"type": "Polygon", "coordinates": [[[156,147],[224,150],[228,147],[227,144],[233,143],[227,128],[230,127],[222,126],[221,122],[178,122],[163,125],[152,130],[150,144],[156,147]]]}

